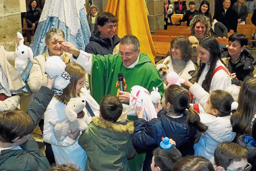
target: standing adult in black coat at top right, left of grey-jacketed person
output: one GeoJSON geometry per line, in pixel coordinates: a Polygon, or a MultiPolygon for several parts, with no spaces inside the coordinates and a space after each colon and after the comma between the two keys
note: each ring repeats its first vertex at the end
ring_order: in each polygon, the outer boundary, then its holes
{"type": "Polygon", "coordinates": [[[238,24],[237,18],[237,12],[230,8],[230,0],[224,0],[223,8],[219,9],[213,16],[213,19],[224,24],[230,33],[236,32],[238,24]]]}

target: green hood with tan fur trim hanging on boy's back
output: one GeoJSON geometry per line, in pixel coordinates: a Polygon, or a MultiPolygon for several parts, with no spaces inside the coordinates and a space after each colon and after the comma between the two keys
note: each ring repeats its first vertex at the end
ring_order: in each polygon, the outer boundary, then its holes
{"type": "Polygon", "coordinates": [[[100,151],[119,151],[131,143],[133,130],[133,122],[128,120],[113,123],[95,116],[78,143],[83,149],[90,144],[90,148],[97,146],[100,151]]]}

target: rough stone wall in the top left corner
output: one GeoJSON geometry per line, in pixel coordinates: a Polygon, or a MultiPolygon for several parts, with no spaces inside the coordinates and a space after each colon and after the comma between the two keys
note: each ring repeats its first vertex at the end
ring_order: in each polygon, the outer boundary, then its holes
{"type": "Polygon", "coordinates": [[[0,45],[7,51],[15,50],[17,31],[22,32],[19,0],[0,0],[0,45]]]}

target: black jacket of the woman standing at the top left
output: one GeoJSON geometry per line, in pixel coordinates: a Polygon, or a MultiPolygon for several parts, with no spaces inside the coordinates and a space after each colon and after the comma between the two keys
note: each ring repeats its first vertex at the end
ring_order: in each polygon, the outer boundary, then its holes
{"type": "Polygon", "coordinates": [[[35,23],[37,27],[41,13],[42,13],[42,10],[38,7],[36,7],[34,10],[32,10],[31,7],[27,8],[27,12],[25,14],[25,20],[28,28],[31,28],[33,23],[35,23]]]}

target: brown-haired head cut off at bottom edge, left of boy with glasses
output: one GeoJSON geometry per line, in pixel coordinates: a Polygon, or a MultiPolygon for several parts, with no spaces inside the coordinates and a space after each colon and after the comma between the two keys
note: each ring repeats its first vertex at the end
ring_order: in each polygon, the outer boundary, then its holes
{"type": "Polygon", "coordinates": [[[202,156],[188,156],[176,162],[172,168],[175,171],[215,171],[212,163],[202,156]]]}

